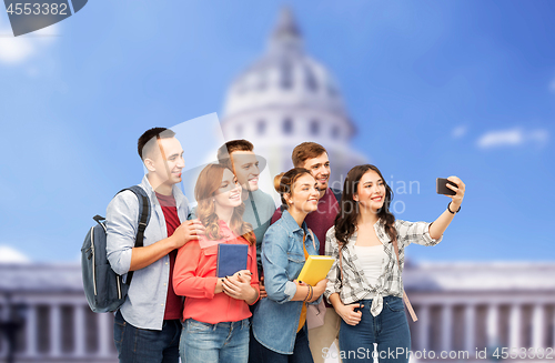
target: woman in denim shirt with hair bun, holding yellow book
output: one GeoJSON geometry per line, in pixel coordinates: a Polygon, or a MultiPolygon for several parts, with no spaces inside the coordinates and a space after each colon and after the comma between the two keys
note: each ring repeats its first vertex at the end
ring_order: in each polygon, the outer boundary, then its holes
{"type": "Polygon", "coordinates": [[[252,319],[254,349],[264,363],[311,363],[306,304],[320,302],[326,280],[315,286],[296,281],[309,255],[319,254],[320,243],[304,218],[317,209],[319,190],[310,171],[296,168],[275,177],[275,190],[286,205],[262,242],[262,266],[266,299],[252,319]]]}

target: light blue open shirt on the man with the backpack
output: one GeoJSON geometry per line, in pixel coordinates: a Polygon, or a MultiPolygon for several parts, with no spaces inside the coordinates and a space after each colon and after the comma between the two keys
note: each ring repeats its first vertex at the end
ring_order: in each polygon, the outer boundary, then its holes
{"type": "MultiPolygon", "coordinates": [[[[143,242],[147,246],[167,239],[168,230],[164,213],[147,175],[139,185],[144,189],[150,201],[150,221],[144,230],[143,242]]],[[[189,202],[178,185],[173,185],[173,196],[178,216],[183,222],[189,213],[189,202]]],[[[108,205],[105,219],[108,261],[115,273],[125,274],[131,265],[131,253],[139,226],[139,200],[135,194],[124,191],[115,195],[108,205]]],[[[123,319],[137,327],[162,330],[168,283],[171,283],[169,255],[137,270],[128,298],[120,307],[123,319]]]]}

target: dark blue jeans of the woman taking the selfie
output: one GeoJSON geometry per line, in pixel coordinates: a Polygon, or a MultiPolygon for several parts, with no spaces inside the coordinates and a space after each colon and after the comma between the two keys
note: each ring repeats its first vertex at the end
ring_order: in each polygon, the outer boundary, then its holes
{"type": "Polygon", "coordinates": [[[353,326],[341,321],[340,354],[343,363],[372,363],[374,343],[377,343],[380,363],[408,362],[411,332],[403,300],[384,296],[383,310],[377,316],[370,313],[372,300],[363,300],[362,304],[364,307],[359,324],[353,326]]]}

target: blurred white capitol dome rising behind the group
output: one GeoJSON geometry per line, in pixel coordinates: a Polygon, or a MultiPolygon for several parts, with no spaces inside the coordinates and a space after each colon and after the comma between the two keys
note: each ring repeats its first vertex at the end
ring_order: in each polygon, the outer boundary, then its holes
{"type": "Polygon", "coordinates": [[[332,180],[364,161],[349,148],[355,128],[337,84],[304,51],[289,9],[280,13],[265,53],[230,85],[222,129],[228,140],[250,140],[269,160],[272,174],[292,168],[291,152],[304,141],[327,149],[332,180]]]}

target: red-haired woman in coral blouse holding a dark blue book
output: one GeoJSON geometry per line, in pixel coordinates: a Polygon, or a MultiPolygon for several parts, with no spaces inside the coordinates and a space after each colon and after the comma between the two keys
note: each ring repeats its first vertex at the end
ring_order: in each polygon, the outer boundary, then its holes
{"type": "Polygon", "coordinates": [[[256,245],[242,220],[241,185],[231,170],[209,164],[196,181],[196,215],[205,235],[183,245],[175,260],[173,286],[186,296],[180,355],[186,363],[246,363],[249,311],[259,298],[256,245]],[[248,270],[216,278],[218,244],[249,245],[248,270]]]}

